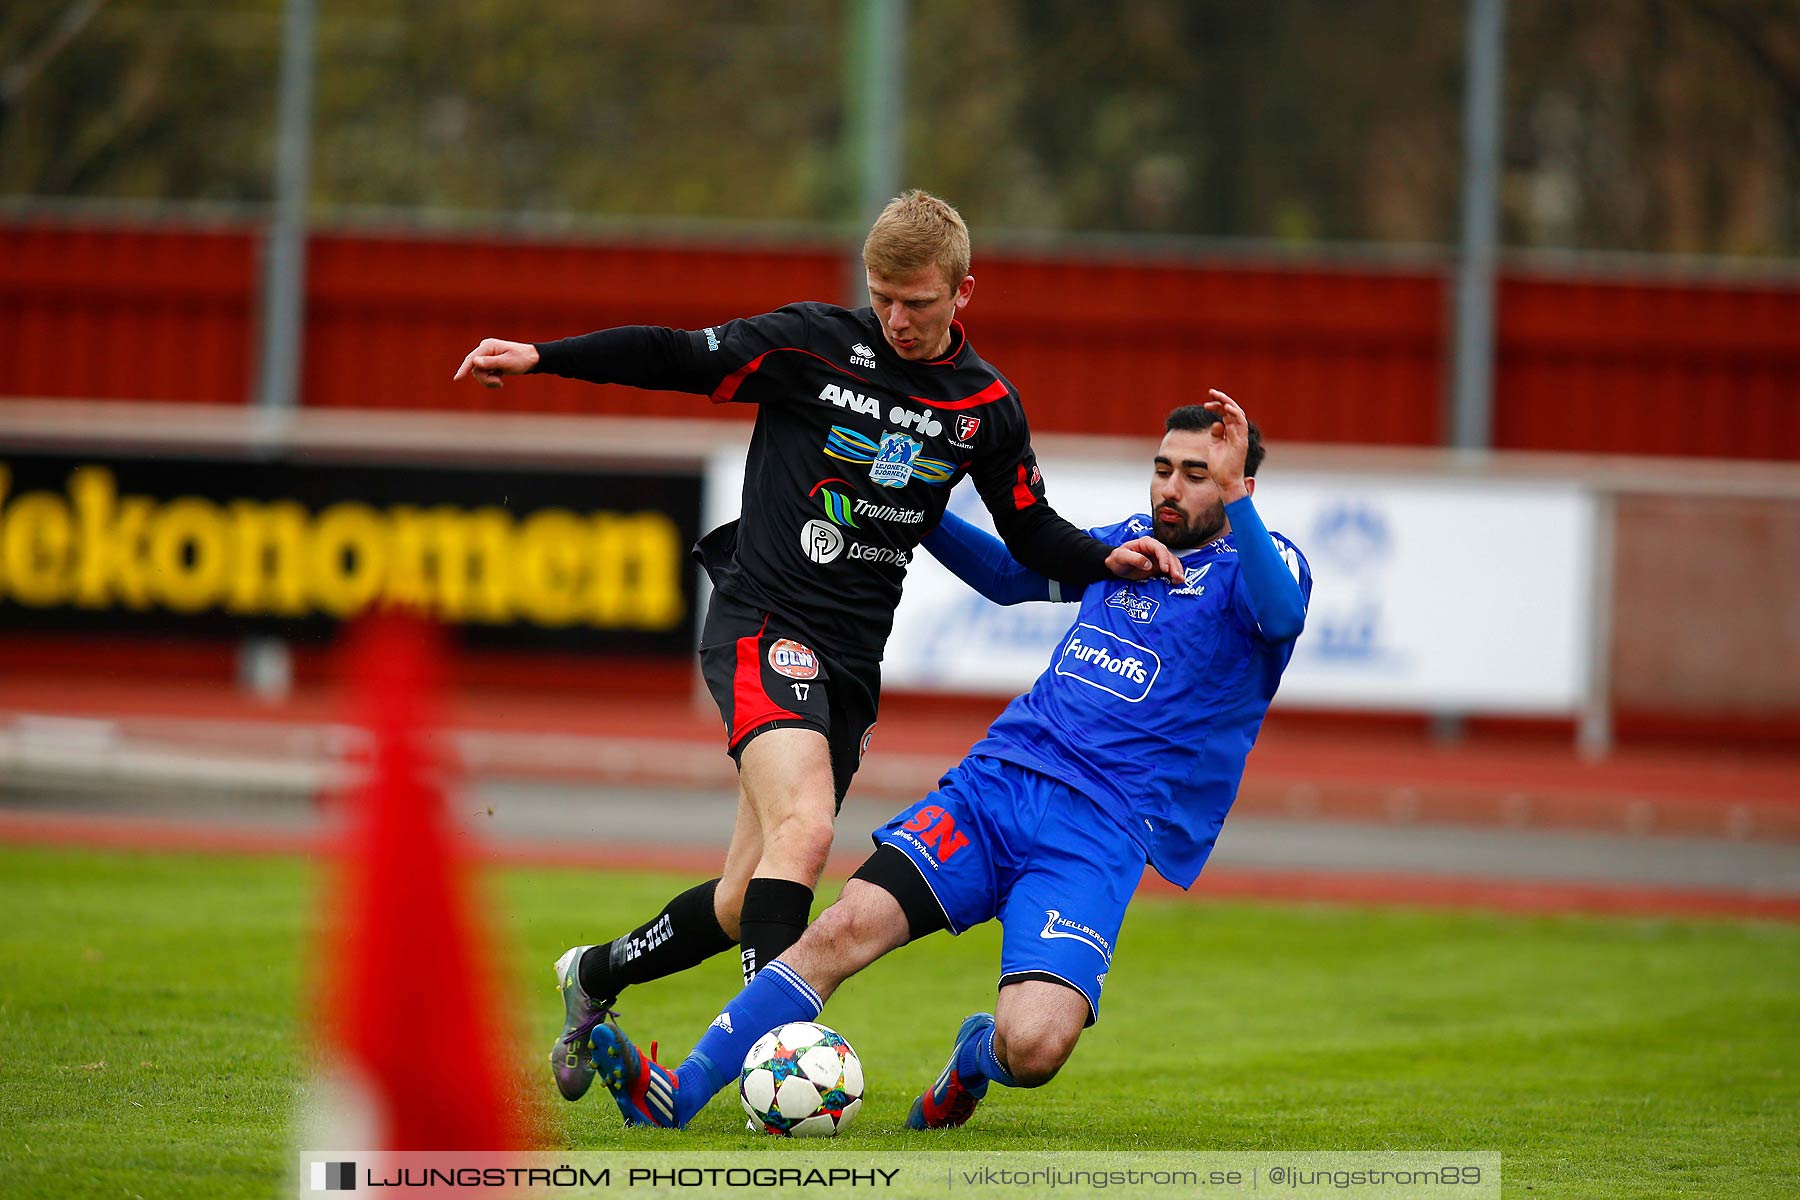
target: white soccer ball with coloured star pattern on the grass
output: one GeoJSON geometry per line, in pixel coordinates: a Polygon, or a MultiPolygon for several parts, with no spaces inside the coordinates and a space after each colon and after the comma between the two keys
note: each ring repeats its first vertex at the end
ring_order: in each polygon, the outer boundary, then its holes
{"type": "Polygon", "coordinates": [[[770,1029],[743,1056],[738,1099],[751,1126],[778,1137],[835,1137],[862,1108],[862,1060],[810,1020],[770,1029]]]}

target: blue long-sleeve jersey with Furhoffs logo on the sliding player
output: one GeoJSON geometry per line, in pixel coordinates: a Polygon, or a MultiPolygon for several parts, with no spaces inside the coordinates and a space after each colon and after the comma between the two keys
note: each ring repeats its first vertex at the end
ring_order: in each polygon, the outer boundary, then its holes
{"type": "MultiPolygon", "coordinates": [[[[1249,498],[1226,513],[1229,534],[1181,554],[1184,585],[1087,585],[1049,667],[970,748],[1075,786],[1179,887],[1219,838],[1312,596],[1307,560],[1249,498]]],[[[1120,545],[1150,529],[1138,515],[1091,533],[1120,545]]],[[[1076,599],[954,516],[923,545],[997,603],[1076,599]]]]}

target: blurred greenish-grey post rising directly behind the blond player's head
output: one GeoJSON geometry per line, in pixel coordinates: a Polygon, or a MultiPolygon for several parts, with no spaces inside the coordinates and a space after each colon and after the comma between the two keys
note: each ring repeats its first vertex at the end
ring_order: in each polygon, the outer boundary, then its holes
{"type": "Polygon", "coordinates": [[[846,158],[855,167],[850,306],[868,304],[862,234],[900,191],[900,130],[905,122],[905,0],[855,0],[850,5],[850,54],[844,76],[846,158]]]}

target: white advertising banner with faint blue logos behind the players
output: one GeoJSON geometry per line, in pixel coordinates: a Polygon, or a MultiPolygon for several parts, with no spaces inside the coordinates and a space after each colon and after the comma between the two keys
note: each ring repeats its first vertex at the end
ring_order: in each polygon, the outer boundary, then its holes
{"type": "MultiPolygon", "coordinates": [[[[1046,459],[1049,497],[1084,527],[1148,507],[1150,468],[1046,459]]],[[[736,513],[742,457],[715,459],[709,527],[736,513]]],[[[1276,705],[1570,714],[1591,669],[1595,502],[1575,484],[1280,471],[1256,509],[1312,567],[1312,606],[1276,705]]],[[[988,531],[967,480],[950,511],[988,531]]],[[[1073,604],[1001,608],[920,551],[882,684],[1017,693],[1073,604]]]]}

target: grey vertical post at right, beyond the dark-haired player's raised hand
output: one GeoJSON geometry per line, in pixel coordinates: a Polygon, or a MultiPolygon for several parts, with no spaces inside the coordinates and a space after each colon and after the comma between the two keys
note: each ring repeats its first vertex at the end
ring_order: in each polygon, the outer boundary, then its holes
{"type": "Polygon", "coordinates": [[[1451,444],[1494,444],[1494,257],[1499,236],[1501,79],[1505,0],[1469,0],[1463,92],[1462,237],[1456,255],[1456,340],[1451,376],[1451,444]]]}

